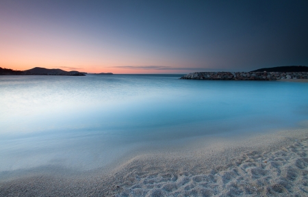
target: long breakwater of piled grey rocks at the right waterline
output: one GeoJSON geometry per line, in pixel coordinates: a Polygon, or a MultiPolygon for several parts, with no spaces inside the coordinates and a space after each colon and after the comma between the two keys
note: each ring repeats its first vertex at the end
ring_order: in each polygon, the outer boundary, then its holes
{"type": "Polygon", "coordinates": [[[271,81],[279,79],[308,79],[308,72],[196,72],[184,75],[180,79],[255,81],[271,81]]]}

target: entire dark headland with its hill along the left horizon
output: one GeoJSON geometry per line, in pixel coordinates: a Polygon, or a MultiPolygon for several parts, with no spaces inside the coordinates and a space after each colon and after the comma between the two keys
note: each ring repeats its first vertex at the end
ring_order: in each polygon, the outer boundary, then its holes
{"type": "Polygon", "coordinates": [[[87,73],[80,73],[79,71],[65,71],[59,68],[48,69],[35,67],[29,70],[12,70],[9,68],[0,67],[0,75],[66,75],[66,76],[86,76],[87,73]]]}

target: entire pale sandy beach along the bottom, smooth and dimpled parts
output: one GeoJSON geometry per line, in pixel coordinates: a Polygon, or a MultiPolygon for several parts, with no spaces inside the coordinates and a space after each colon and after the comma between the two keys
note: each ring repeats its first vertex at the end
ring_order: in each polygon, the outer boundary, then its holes
{"type": "Polygon", "coordinates": [[[198,137],[138,153],[108,173],[38,172],[2,181],[0,196],[308,196],[307,153],[303,128],[198,137]]]}

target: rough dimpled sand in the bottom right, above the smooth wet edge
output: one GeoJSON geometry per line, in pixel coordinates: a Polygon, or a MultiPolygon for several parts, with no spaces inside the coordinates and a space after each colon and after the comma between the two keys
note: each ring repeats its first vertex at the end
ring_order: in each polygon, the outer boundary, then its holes
{"type": "Polygon", "coordinates": [[[207,174],[151,174],[116,196],[308,196],[308,140],[274,152],[250,151],[207,174]]]}

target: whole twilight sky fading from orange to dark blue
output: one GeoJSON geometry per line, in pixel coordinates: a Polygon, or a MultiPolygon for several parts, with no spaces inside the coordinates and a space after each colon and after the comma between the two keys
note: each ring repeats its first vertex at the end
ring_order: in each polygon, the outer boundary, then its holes
{"type": "Polygon", "coordinates": [[[307,10],[307,0],[0,0],[0,67],[185,74],[308,66],[307,10]]]}

